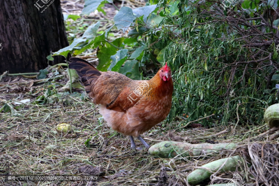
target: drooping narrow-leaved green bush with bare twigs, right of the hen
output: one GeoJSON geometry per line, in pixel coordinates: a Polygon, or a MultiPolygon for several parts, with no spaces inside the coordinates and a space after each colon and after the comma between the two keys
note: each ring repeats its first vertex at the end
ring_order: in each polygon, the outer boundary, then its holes
{"type": "Polygon", "coordinates": [[[237,118],[238,124],[263,122],[264,108],[278,102],[279,17],[266,15],[278,2],[224,1],[229,6],[223,9],[220,2],[180,1],[175,14],[165,8],[165,20],[177,26],[173,31],[160,24],[158,37],[170,38],[164,59],[176,70],[169,118],[185,113],[196,120],[214,113],[214,122],[224,124],[237,118]]]}

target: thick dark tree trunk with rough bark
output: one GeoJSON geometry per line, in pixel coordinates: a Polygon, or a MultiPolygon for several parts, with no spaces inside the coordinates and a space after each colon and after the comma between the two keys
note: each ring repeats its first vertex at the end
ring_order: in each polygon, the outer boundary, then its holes
{"type": "Polygon", "coordinates": [[[51,52],[69,46],[60,0],[0,0],[0,10],[0,73],[44,69],[51,52]]]}

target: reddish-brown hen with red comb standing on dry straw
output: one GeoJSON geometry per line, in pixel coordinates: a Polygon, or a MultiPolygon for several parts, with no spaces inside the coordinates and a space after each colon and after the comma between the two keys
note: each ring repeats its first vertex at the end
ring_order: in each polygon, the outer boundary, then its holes
{"type": "Polygon", "coordinates": [[[149,145],[141,134],[162,122],[170,112],[173,82],[170,67],[163,66],[150,80],[132,80],[117,72],[100,72],[86,60],[70,58],[70,69],[75,69],[86,93],[115,131],[129,135],[131,148],[134,137],[146,148],[149,145]]]}

